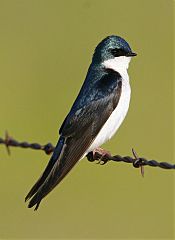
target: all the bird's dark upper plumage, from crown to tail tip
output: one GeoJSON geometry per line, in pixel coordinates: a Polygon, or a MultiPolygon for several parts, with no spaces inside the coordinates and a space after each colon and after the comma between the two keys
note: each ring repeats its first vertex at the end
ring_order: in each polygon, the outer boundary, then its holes
{"type": "Polygon", "coordinates": [[[26,200],[32,198],[28,205],[30,208],[36,205],[37,209],[41,200],[87,153],[116,109],[122,91],[122,77],[103,63],[115,57],[111,50],[118,49],[125,54],[132,53],[128,43],[117,36],[105,38],[96,47],[85,81],[60,128],[61,136],[54,153],[42,176],[26,196],[26,200]]]}

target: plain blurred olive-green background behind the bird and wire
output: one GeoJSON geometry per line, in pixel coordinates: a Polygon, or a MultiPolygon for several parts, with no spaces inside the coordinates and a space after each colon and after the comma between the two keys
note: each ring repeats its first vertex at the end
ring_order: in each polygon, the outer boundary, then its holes
{"type": "MultiPolygon", "coordinates": [[[[95,46],[124,37],[132,100],[113,154],[173,162],[173,1],[0,0],[0,136],[56,143],[95,46]]],[[[173,171],[81,161],[34,212],[43,152],[0,148],[0,238],[173,239],[173,171]]],[[[174,160],[175,161],[175,160],[174,160]]]]}

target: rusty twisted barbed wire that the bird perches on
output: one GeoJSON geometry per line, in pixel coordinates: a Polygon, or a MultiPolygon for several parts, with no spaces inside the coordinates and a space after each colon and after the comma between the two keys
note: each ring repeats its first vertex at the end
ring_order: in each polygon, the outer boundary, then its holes
{"type": "MultiPolygon", "coordinates": [[[[51,143],[47,143],[45,145],[41,145],[39,143],[28,143],[28,142],[19,142],[9,136],[8,132],[5,133],[5,138],[0,138],[0,144],[5,145],[7,148],[7,152],[10,154],[10,147],[21,147],[21,148],[30,148],[34,150],[42,150],[46,154],[51,154],[55,147],[51,143]]],[[[86,156],[88,161],[93,162],[95,160],[98,160],[101,165],[106,164],[109,161],[113,162],[124,162],[124,163],[131,163],[134,168],[140,168],[141,174],[144,176],[144,166],[150,166],[150,167],[159,167],[163,169],[175,169],[175,164],[170,164],[167,162],[157,162],[156,160],[147,160],[142,157],[138,157],[136,151],[132,149],[133,157],[130,156],[120,156],[120,155],[114,155],[112,156],[109,152],[106,152],[106,154],[100,153],[100,151],[88,153],[86,156]]]]}

